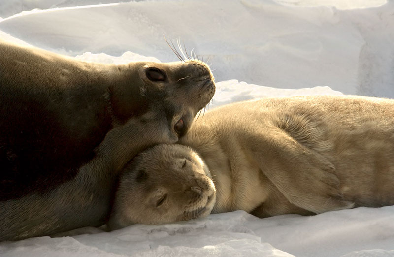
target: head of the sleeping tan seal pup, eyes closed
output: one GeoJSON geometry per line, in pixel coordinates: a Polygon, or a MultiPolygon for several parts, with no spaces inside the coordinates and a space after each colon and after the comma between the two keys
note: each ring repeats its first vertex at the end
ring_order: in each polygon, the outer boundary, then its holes
{"type": "Polygon", "coordinates": [[[125,167],[107,225],[113,230],[202,218],[215,200],[208,167],[195,151],[177,144],[158,145],[125,167]]]}

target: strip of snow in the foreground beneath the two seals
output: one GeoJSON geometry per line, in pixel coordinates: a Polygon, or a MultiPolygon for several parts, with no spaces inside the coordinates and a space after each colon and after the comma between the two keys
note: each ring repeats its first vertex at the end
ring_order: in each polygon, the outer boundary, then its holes
{"type": "Polygon", "coordinates": [[[311,217],[259,219],[244,211],[112,232],[39,237],[0,244],[0,255],[47,256],[394,256],[394,207],[356,208],[311,217]]]}

